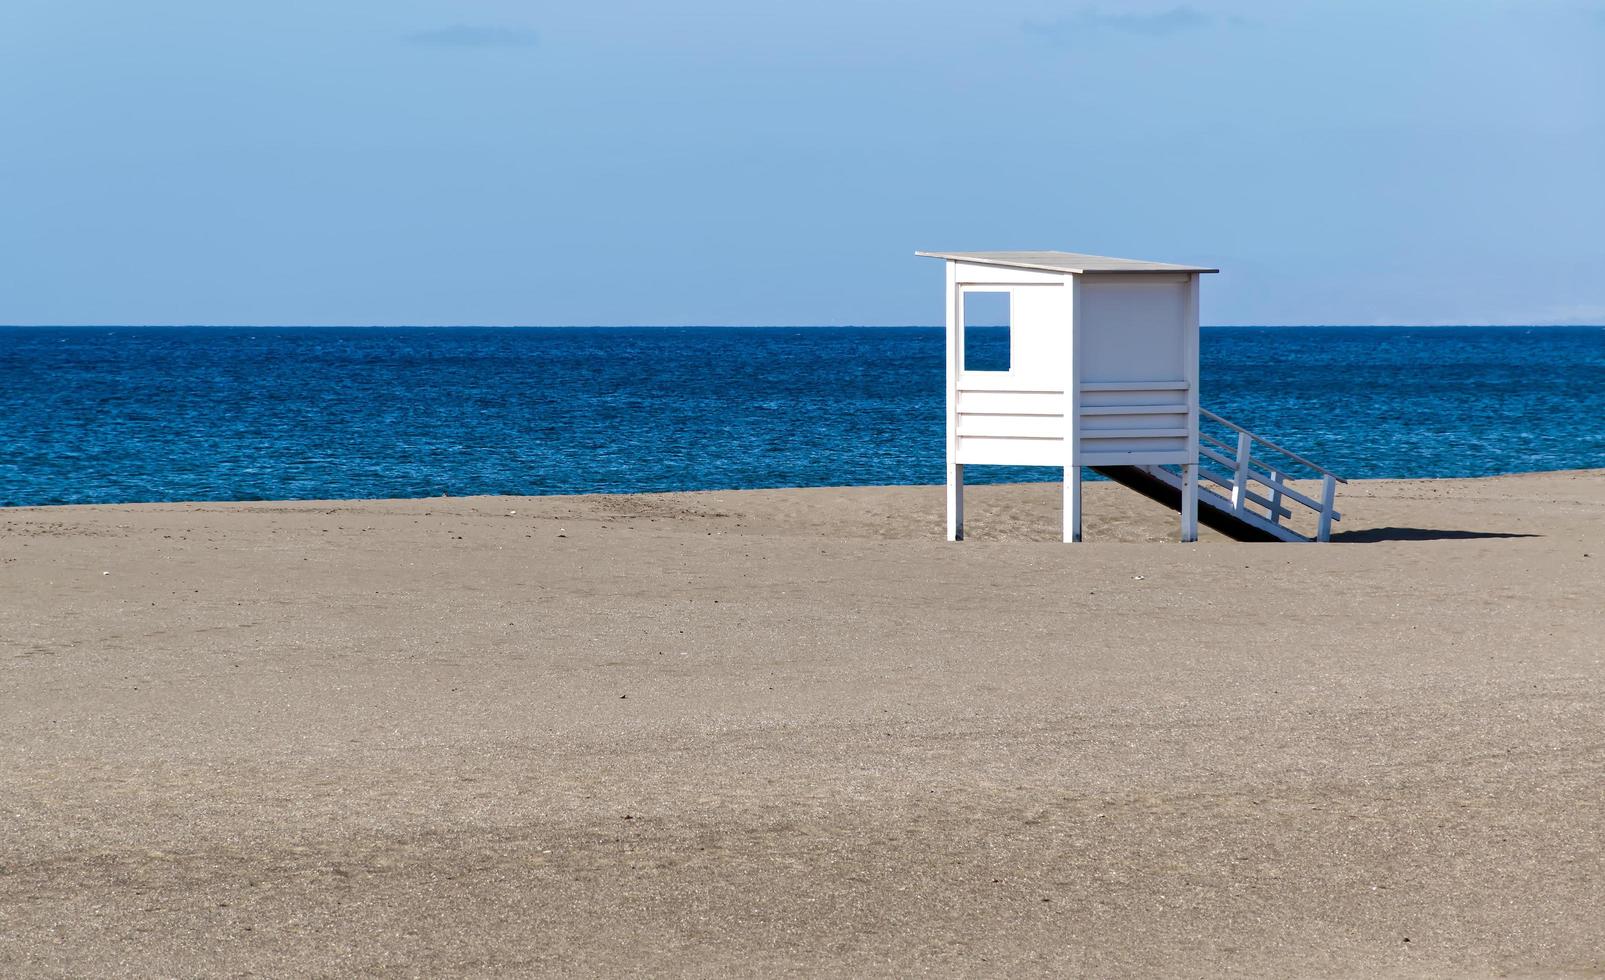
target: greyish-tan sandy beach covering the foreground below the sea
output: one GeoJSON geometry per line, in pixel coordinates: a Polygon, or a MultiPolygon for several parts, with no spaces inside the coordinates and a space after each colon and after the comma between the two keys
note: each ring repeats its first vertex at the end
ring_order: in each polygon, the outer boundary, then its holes
{"type": "Polygon", "coordinates": [[[0,974],[1605,975],[1605,472],[0,510],[0,974]]]}

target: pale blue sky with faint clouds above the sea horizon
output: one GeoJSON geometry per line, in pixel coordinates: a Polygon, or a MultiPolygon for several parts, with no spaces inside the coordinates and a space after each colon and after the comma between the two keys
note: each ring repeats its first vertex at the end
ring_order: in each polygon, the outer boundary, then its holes
{"type": "Polygon", "coordinates": [[[1605,322],[1605,0],[6,0],[0,322],[1605,322]]]}

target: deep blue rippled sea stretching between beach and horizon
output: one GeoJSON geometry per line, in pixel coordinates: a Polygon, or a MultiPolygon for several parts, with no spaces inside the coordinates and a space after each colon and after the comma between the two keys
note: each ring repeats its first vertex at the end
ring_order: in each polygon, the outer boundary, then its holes
{"type": "MultiPolygon", "coordinates": [[[[1605,467],[1602,327],[1202,361],[1205,407],[1348,478],[1605,467]]],[[[941,483],[942,387],[928,327],[0,327],[0,505],[941,483]]]]}

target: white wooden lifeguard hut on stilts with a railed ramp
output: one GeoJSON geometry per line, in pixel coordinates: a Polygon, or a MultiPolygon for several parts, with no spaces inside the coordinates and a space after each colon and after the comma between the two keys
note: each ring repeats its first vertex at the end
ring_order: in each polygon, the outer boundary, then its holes
{"type": "Polygon", "coordinates": [[[916,255],[947,266],[949,541],[965,536],[966,465],[1063,467],[1064,541],[1082,539],[1082,467],[1178,510],[1181,541],[1197,541],[1201,502],[1210,526],[1274,541],[1311,539],[1282,523],[1287,502],[1305,504],[1313,537],[1327,539],[1342,480],[1199,407],[1199,277],[1218,269],[1075,252],[916,255]],[[1002,369],[966,362],[966,326],[982,326],[969,308],[985,298],[1006,300],[1002,369]],[[1204,419],[1237,444],[1201,431],[1204,419]],[[1287,460],[1323,475],[1323,500],[1287,486],[1287,460]],[[1201,492],[1201,476],[1225,496],[1201,492]]]}

